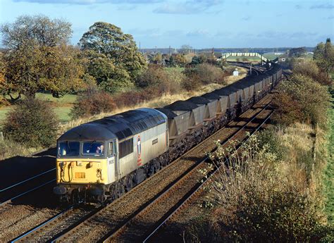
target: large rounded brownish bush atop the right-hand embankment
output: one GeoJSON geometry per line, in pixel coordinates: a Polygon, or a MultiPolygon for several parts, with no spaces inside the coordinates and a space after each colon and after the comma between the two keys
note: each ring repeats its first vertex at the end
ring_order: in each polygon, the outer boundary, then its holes
{"type": "Polygon", "coordinates": [[[273,101],[277,108],[273,117],[276,122],[290,125],[294,121],[326,125],[329,94],[326,87],[311,77],[292,75],[289,80],[280,83],[273,101]]]}

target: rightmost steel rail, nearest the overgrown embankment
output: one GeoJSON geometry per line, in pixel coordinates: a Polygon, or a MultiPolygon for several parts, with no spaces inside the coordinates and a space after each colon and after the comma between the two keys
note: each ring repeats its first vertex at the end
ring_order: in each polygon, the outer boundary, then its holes
{"type": "MultiPolygon", "coordinates": [[[[264,110],[263,110],[264,111],[264,110]]],[[[257,132],[265,123],[266,123],[266,121],[269,119],[269,118],[271,118],[271,116],[273,115],[273,113],[274,113],[274,111],[272,111],[267,117],[266,117],[266,119],[261,123],[261,124],[259,124],[257,127],[256,127],[256,129],[252,132],[252,134],[249,136],[249,137],[247,137],[247,139],[245,140],[245,142],[247,142],[247,140],[250,138],[250,137],[252,137],[252,135],[254,135],[254,133],[255,132],[257,132]]],[[[241,147],[241,146],[240,146],[241,147]]],[[[236,151],[238,151],[239,149],[240,149],[240,147],[237,147],[237,149],[236,149],[236,151]]],[[[225,158],[225,163],[226,162],[228,162],[229,161],[229,158],[225,158]]],[[[224,163],[222,163],[222,164],[224,164],[224,163]]],[[[175,216],[175,214],[176,213],[178,213],[178,211],[180,211],[180,209],[181,208],[183,208],[183,206],[185,206],[185,204],[187,204],[187,202],[189,202],[190,201],[190,199],[192,199],[192,197],[194,197],[194,195],[195,194],[197,194],[198,192],[199,192],[199,190],[200,189],[202,189],[203,188],[203,186],[204,185],[206,185],[206,183],[207,182],[209,182],[211,179],[212,179],[212,177],[214,176],[214,175],[216,175],[216,173],[220,170],[220,168],[221,168],[221,166],[219,166],[218,168],[216,168],[216,170],[213,172],[213,173],[211,173],[211,175],[209,175],[209,177],[207,177],[203,182],[202,182],[202,184],[201,185],[199,185],[199,187],[194,191],[194,192],[192,192],[192,194],[190,194],[190,196],[189,197],[187,197],[184,201],[183,201],[183,203],[182,204],[180,204],[180,206],[178,206],[173,212],[171,212],[170,214],[169,214],[169,216],[165,219],[165,220],[163,220],[163,222],[162,223],[160,223],[159,225],[158,225],[158,227],[156,227],[144,240],[143,240],[143,243],[147,243],[150,239],[151,239],[151,237],[153,237],[162,227],[163,227],[163,225],[166,225],[166,223],[168,223],[168,221],[169,220],[171,220],[171,218],[173,217],[173,216],[175,216]]]]}

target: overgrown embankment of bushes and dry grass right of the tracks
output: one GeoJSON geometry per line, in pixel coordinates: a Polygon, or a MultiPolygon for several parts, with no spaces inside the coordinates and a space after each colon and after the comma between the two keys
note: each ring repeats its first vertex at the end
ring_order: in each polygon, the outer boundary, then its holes
{"type": "Polygon", "coordinates": [[[283,82],[274,123],[252,146],[260,150],[237,157],[246,166],[216,177],[159,239],[333,242],[333,92],[328,98],[307,75],[283,82]]]}

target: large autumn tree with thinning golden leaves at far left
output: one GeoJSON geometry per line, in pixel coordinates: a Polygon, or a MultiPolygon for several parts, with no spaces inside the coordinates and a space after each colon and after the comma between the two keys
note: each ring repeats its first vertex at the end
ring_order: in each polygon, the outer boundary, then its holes
{"type": "Polygon", "coordinates": [[[80,50],[69,44],[70,23],[44,15],[23,15],[14,23],[1,25],[0,33],[6,48],[6,85],[0,89],[11,99],[22,94],[35,97],[38,91],[60,97],[84,85],[80,50]]]}

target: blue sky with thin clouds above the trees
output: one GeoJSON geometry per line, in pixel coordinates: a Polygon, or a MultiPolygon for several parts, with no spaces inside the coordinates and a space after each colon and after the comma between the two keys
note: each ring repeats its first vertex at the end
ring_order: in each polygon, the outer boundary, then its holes
{"type": "Polygon", "coordinates": [[[73,44],[97,21],[142,48],[315,46],[334,41],[334,0],[0,0],[0,23],[42,13],[72,23],[73,44]]]}

